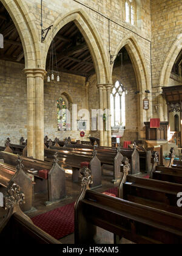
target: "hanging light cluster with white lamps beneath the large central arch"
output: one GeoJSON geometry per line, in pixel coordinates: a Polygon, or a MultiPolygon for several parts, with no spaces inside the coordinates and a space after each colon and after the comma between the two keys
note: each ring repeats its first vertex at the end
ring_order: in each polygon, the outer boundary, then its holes
{"type": "Polygon", "coordinates": [[[60,82],[60,77],[59,77],[59,73],[58,73],[58,63],[57,63],[57,57],[56,57],[55,40],[54,40],[54,34],[52,32],[52,43],[50,46],[50,59],[49,59],[49,71],[48,71],[48,76],[47,76],[47,82],[50,82],[50,80],[52,80],[52,81],[55,80],[54,73],[57,73],[56,80],[57,80],[57,82],[60,82]],[[54,71],[54,63],[56,63],[56,71],[54,71]]]}

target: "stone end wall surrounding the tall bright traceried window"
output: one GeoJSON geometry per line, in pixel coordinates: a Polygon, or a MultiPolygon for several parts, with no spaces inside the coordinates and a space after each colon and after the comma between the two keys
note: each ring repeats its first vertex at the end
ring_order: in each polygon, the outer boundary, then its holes
{"type": "MultiPolygon", "coordinates": [[[[135,72],[132,64],[124,65],[125,77],[121,79],[121,68],[113,69],[113,84],[117,80],[122,80],[124,87],[127,88],[126,95],[126,130],[124,130],[123,137],[120,142],[138,140],[138,96],[135,94],[137,91],[135,72]]],[[[89,79],[89,109],[99,108],[98,89],[96,87],[96,76],[89,79]]],[[[99,137],[99,131],[90,131],[92,137],[99,137]]],[[[112,130],[112,135],[120,135],[120,133],[112,130]]]]}

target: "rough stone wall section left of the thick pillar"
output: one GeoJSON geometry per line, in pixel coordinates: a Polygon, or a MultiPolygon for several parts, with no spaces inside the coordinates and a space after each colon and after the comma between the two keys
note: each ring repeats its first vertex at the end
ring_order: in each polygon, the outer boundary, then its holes
{"type": "Polygon", "coordinates": [[[0,62],[0,145],[27,136],[27,79],[24,65],[0,62]]]}

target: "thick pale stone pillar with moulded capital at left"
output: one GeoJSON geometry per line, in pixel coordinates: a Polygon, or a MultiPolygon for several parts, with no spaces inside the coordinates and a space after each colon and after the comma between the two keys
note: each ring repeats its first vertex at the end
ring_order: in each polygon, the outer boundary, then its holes
{"type": "Polygon", "coordinates": [[[44,160],[44,69],[27,74],[27,155],[44,160]]]}

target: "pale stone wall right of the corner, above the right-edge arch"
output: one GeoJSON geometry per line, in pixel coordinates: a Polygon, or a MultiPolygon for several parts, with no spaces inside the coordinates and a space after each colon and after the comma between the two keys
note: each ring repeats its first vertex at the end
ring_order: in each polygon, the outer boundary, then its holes
{"type": "MultiPolygon", "coordinates": [[[[151,0],[153,87],[158,87],[164,60],[177,36],[181,33],[181,15],[181,0],[151,0]]],[[[168,75],[170,76],[170,73],[168,75]]],[[[167,86],[167,84],[161,86],[167,86]]]]}

